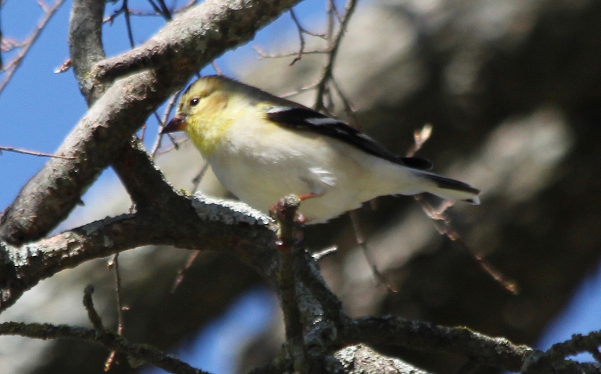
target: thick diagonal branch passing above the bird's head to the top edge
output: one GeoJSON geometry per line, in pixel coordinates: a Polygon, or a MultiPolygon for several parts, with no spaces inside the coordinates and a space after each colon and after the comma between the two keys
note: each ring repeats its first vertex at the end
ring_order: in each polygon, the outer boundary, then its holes
{"type": "MultiPolygon", "coordinates": [[[[204,64],[250,40],[259,28],[297,1],[206,1],[169,22],[141,48],[124,54],[124,60],[130,61],[130,55],[147,51],[142,54],[146,58],[138,58],[138,63],[133,64],[136,69],[142,65],[165,68],[120,79],[94,102],[56,152],[77,159],[52,159],[29,180],[2,214],[0,238],[19,244],[46,235],[69,214],[100,171],[114,160],[132,133],[169,94],[204,64]],[[145,64],[140,65],[139,61],[145,64]],[[148,61],[152,63],[147,64],[148,61]]],[[[87,56],[82,60],[93,61],[99,54],[98,48],[94,51],[82,52],[87,56]]],[[[114,60],[99,64],[104,67],[101,70],[105,78],[112,71],[108,69],[111,61],[114,60]]],[[[127,66],[117,75],[131,72],[132,64],[127,66]]],[[[86,84],[82,87],[83,91],[90,89],[86,84]]]]}

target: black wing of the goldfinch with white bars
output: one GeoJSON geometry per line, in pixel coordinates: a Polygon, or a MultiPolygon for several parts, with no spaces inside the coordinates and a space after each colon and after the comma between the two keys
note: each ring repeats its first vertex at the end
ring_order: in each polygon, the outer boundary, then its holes
{"type": "Polygon", "coordinates": [[[400,157],[385,149],[381,144],[348,124],[328,117],[309,108],[279,106],[267,111],[267,118],[293,129],[314,131],[332,136],[344,143],[357,147],[370,155],[383,158],[406,167],[430,170],[432,163],[417,157],[400,157]]]}

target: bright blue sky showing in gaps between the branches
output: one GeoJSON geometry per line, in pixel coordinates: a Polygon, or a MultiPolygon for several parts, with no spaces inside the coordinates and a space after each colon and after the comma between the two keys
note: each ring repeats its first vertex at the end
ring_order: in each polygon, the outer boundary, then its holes
{"type": "MultiPolygon", "coordinates": [[[[50,0],[46,1],[50,2],[50,0]]],[[[132,8],[147,8],[146,4],[147,2],[142,0],[130,1],[132,8]]],[[[118,5],[120,3],[109,3],[107,14],[112,13],[118,5]]],[[[61,66],[69,56],[67,27],[70,6],[71,2],[67,1],[50,20],[13,80],[0,94],[0,145],[2,146],[52,153],[86,111],[73,72],[53,73],[53,70],[61,66]]],[[[320,27],[315,25],[320,23],[320,19],[323,20],[324,8],[325,2],[322,0],[306,0],[297,8],[297,15],[305,26],[319,30],[320,27]]],[[[2,6],[0,17],[4,36],[22,40],[32,32],[41,18],[41,11],[33,0],[8,0],[2,6]],[[22,14],[26,14],[27,17],[21,16],[22,14]]],[[[132,22],[134,38],[138,44],[153,35],[164,24],[159,17],[133,17],[132,22]]],[[[294,35],[293,25],[290,23],[290,16],[284,14],[268,29],[260,32],[251,45],[267,46],[268,49],[274,43],[287,41],[290,35],[294,35]]],[[[105,26],[103,39],[109,56],[129,49],[123,17],[117,19],[113,25],[105,26]]],[[[10,58],[10,54],[3,56],[5,63],[10,58]]],[[[236,76],[237,61],[253,60],[254,52],[246,46],[226,54],[219,60],[219,66],[227,75],[236,76]]],[[[210,67],[206,71],[213,72],[210,67]]],[[[149,126],[149,133],[154,135],[156,123],[149,121],[149,126]]],[[[153,137],[149,136],[148,139],[152,141],[153,137]]],[[[10,204],[20,187],[42,167],[44,162],[46,162],[45,158],[2,152],[0,156],[1,209],[10,204]]],[[[99,184],[93,189],[99,188],[98,186],[102,186],[103,182],[111,179],[114,179],[111,172],[104,173],[99,184]]],[[[269,298],[262,291],[251,293],[251,296],[255,299],[269,298]]],[[[248,299],[240,302],[246,305],[244,303],[248,302],[248,299]]],[[[237,307],[233,308],[236,310],[237,307]]],[[[264,313],[264,309],[257,309],[256,315],[260,316],[264,313]]],[[[214,336],[216,329],[227,328],[223,326],[216,322],[212,328],[207,328],[209,331],[207,334],[214,336]]],[[[582,284],[581,289],[574,296],[573,304],[558,316],[557,323],[542,339],[540,348],[548,348],[552,342],[569,339],[573,333],[587,333],[599,328],[601,328],[601,273],[597,272],[582,284]]],[[[200,363],[195,364],[202,367],[200,363]]]]}

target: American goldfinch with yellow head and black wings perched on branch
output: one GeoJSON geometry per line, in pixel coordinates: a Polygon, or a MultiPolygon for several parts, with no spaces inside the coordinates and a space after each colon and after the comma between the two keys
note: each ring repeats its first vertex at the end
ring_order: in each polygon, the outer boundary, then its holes
{"type": "Polygon", "coordinates": [[[224,76],[186,89],[162,132],[179,130],[240,200],[268,212],[296,194],[307,198],[300,210],[308,223],[383,195],[430,192],[479,203],[478,189],[425,171],[432,167],[425,159],[395,156],[346,123],[224,76]]]}

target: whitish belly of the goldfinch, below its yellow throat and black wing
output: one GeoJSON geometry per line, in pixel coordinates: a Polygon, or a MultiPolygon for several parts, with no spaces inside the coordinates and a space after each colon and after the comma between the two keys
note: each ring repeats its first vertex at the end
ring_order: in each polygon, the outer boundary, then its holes
{"type": "Polygon", "coordinates": [[[209,163],[225,188],[263,212],[286,195],[318,195],[301,204],[301,212],[311,223],[327,221],[394,192],[385,180],[373,176],[374,163],[390,162],[338,141],[326,143],[312,133],[294,136],[294,149],[287,146],[290,139],[285,144],[273,138],[255,139],[255,148],[257,142],[263,143],[263,152],[249,150],[245,145],[249,143],[230,142],[216,150],[209,163]]]}

